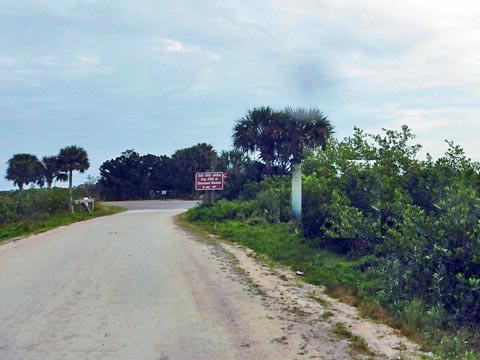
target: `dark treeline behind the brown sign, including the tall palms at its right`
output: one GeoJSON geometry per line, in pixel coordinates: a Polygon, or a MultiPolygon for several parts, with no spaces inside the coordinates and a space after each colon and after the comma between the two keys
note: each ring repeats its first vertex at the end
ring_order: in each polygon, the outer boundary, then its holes
{"type": "Polygon", "coordinates": [[[98,189],[108,200],[192,198],[198,195],[195,172],[221,171],[225,188],[220,196],[234,199],[248,182],[288,174],[303,158],[304,149],[324,147],[332,132],[318,109],[254,108],[236,122],[233,150],[217,153],[205,143],[172,156],[127,150],[101,165],[98,189]]]}

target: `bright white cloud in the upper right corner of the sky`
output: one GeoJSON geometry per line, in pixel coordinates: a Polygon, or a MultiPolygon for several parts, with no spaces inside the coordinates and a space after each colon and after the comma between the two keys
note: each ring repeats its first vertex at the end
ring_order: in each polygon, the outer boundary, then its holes
{"type": "Polygon", "coordinates": [[[339,61],[341,77],[388,89],[462,87],[479,94],[480,26],[476,19],[480,8],[474,2],[373,4],[375,8],[360,12],[356,30],[364,37],[380,36],[401,44],[403,50],[381,57],[351,52],[339,61]]]}

